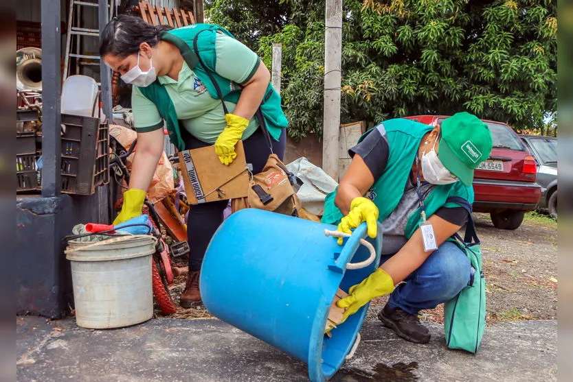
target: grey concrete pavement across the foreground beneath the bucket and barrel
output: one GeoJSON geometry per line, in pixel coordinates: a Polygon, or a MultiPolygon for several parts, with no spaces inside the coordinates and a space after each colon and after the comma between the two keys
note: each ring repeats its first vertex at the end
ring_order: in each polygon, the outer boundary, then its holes
{"type": "MultiPolygon", "coordinates": [[[[477,355],[405,342],[366,322],[332,381],[556,381],[557,321],[488,326],[477,355]]],[[[305,381],[306,365],[219,320],[150,320],[93,331],[73,319],[16,317],[18,381],[305,381]]]]}

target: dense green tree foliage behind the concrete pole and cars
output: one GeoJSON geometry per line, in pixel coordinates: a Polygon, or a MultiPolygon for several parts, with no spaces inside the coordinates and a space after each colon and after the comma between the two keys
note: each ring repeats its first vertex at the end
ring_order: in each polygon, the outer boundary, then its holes
{"type": "MultiPolygon", "coordinates": [[[[324,0],[207,0],[271,67],[282,43],[289,134],[322,134],[324,0]]],[[[344,0],[341,121],[467,110],[517,131],[557,114],[557,1],[344,0]]]]}

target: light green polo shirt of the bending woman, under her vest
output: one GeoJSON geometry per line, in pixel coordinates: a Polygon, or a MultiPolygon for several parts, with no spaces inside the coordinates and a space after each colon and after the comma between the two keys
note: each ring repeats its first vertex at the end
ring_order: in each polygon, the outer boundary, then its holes
{"type": "MultiPolygon", "coordinates": [[[[216,67],[219,75],[243,84],[251,79],[258,69],[258,56],[243,43],[222,33],[217,33],[215,40],[216,67]]],[[[221,100],[214,99],[199,77],[183,61],[179,79],[173,80],[167,75],[157,77],[163,84],[175,106],[177,119],[192,136],[206,143],[215,143],[217,136],[227,126],[221,100]]],[[[230,113],[236,104],[225,102],[230,113]]],[[[131,91],[131,107],[137,132],[150,132],[163,128],[163,120],[157,106],[145,97],[137,86],[131,91]]],[[[251,119],[243,132],[243,139],[249,138],[258,128],[256,118],[251,119]]]]}

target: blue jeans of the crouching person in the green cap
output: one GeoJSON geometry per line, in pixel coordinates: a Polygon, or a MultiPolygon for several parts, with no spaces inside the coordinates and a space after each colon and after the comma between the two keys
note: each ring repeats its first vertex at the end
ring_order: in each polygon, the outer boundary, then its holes
{"type": "MultiPolygon", "coordinates": [[[[392,255],[382,256],[381,263],[392,255]]],[[[468,285],[471,265],[466,254],[449,241],[442,243],[420,267],[390,294],[388,305],[407,313],[434,309],[451,300],[468,285]]]]}

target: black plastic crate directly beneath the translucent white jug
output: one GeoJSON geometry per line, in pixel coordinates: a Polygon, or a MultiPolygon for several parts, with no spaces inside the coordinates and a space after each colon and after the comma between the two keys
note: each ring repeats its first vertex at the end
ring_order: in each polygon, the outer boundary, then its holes
{"type": "Polygon", "coordinates": [[[109,123],[99,118],[62,115],[62,192],[91,195],[109,183],[109,123]]]}

